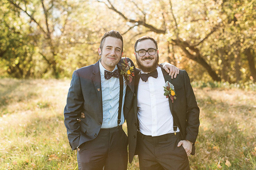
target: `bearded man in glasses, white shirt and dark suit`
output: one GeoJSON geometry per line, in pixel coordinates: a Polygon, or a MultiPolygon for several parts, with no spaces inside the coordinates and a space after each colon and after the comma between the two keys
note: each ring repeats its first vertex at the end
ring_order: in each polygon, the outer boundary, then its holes
{"type": "Polygon", "coordinates": [[[158,64],[157,42],[141,37],[134,46],[141,71],[126,120],[129,162],[138,154],[140,170],[189,170],[199,129],[199,108],[185,70],[171,79],[158,64]],[[164,87],[166,91],[164,91],[164,87]]]}

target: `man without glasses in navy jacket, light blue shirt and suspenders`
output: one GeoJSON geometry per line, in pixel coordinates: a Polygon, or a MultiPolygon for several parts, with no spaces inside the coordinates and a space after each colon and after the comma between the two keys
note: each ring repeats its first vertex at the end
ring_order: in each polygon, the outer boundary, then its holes
{"type": "MultiPolygon", "coordinates": [[[[134,77],[128,81],[120,74],[125,62],[121,34],[105,33],[98,53],[97,63],[73,72],[64,124],[72,150],[78,150],[79,170],[126,170],[128,137],[122,124],[133,102],[134,77]],[[85,118],[77,121],[81,112],[85,118]]],[[[126,62],[134,67],[129,58],[126,62]]]]}

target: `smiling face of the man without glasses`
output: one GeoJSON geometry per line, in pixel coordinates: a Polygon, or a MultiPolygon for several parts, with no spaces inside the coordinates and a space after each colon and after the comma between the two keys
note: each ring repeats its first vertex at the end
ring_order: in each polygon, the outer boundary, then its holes
{"type": "Polygon", "coordinates": [[[121,59],[123,43],[121,39],[114,37],[106,37],[102,49],[98,48],[98,52],[101,54],[101,64],[108,70],[113,71],[116,64],[121,59]]]}

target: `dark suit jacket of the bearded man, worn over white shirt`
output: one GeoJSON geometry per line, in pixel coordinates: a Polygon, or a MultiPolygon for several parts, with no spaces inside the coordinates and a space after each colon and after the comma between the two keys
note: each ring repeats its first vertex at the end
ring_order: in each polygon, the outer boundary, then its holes
{"type": "MultiPolygon", "coordinates": [[[[168,81],[174,85],[177,99],[172,103],[170,97],[169,106],[173,119],[180,129],[182,140],[196,141],[199,129],[199,108],[197,101],[194,96],[193,89],[190,85],[190,78],[185,70],[180,70],[180,74],[176,78],[171,79],[171,76],[161,67],[164,74],[165,82],[168,81]]],[[[127,128],[128,128],[128,143],[129,143],[129,162],[133,161],[133,156],[137,154],[137,87],[139,84],[140,76],[139,72],[136,72],[135,78],[135,98],[133,100],[133,108],[126,117],[127,128]]],[[[164,87],[163,95],[164,95],[164,87]]],[[[195,153],[195,147],[192,147],[192,155],[195,153]]]]}

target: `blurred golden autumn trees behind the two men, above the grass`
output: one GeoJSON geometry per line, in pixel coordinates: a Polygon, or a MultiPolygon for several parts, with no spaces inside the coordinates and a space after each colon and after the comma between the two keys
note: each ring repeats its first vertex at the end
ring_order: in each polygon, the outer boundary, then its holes
{"type": "Polygon", "coordinates": [[[118,30],[132,59],[149,35],[192,80],[256,79],[256,0],[1,0],[0,18],[1,77],[70,78],[118,30]]]}

